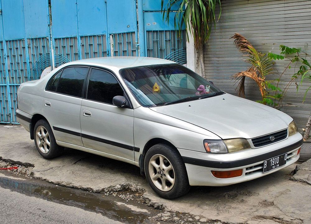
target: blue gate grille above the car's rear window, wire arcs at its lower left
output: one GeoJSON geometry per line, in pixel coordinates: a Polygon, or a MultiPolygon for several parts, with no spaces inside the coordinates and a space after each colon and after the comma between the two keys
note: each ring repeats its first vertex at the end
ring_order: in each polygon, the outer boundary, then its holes
{"type": "Polygon", "coordinates": [[[63,55],[69,61],[79,60],[77,37],[55,39],[55,54],[63,55]]]}

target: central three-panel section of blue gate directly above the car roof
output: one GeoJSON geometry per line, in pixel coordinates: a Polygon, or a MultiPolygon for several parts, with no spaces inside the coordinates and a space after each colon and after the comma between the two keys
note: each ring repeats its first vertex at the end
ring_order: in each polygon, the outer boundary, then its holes
{"type": "Polygon", "coordinates": [[[136,0],[51,0],[51,8],[56,57],[138,55],[136,0]]]}

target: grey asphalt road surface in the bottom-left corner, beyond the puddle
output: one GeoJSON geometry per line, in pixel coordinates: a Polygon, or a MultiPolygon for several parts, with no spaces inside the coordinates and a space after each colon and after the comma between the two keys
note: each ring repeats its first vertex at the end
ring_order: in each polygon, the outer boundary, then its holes
{"type": "Polygon", "coordinates": [[[121,223],[95,212],[0,188],[2,223],[121,223]]]}

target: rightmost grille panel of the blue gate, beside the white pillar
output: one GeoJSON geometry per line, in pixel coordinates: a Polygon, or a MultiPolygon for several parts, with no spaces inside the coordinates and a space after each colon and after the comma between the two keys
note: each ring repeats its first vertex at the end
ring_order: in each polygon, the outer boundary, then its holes
{"type": "Polygon", "coordinates": [[[172,52],[186,48],[186,31],[152,30],[147,31],[147,56],[165,58],[172,52]]]}

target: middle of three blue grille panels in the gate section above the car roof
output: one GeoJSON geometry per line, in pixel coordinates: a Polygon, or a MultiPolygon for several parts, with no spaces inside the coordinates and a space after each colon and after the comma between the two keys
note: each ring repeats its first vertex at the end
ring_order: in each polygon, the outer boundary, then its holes
{"type": "Polygon", "coordinates": [[[81,59],[107,57],[106,35],[82,36],[81,51],[81,59]]]}

